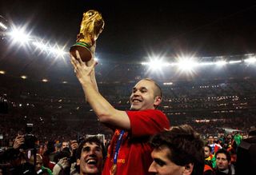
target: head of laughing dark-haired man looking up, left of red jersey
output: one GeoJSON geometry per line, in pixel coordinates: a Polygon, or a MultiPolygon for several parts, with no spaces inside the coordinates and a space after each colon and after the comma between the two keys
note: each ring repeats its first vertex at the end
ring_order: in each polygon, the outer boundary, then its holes
{"type": "Polygon", "coordinates": [[[80,174],[101,174],[106,150],[98,137],[87,137],[77,149],[80,174]]]}

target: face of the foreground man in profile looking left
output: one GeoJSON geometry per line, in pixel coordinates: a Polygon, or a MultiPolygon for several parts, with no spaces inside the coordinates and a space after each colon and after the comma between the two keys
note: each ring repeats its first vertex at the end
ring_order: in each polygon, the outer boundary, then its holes
{"type": "Polygon", "coordinates": [[[184,167],[170,161],[167,157],[169,153],[170,149],[166,147],[154,149],[151,153],[151,157],[154,161],[150,165],[149,172],[158,175],[182,175],[184,167]]]}

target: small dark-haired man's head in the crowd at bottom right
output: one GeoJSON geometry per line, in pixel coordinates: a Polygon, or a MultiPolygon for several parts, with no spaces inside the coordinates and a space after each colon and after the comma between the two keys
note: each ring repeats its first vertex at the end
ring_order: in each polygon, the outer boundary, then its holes
{"type": "Polygon", "coordinates": [[[216,166],[219,170],[225,170],[229,168],[231,156],[225,149],[218,149],[215,154],[216,166]]]}

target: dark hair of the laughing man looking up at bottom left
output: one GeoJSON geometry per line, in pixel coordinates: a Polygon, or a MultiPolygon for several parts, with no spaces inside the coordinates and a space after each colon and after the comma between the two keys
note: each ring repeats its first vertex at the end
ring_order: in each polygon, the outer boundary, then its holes
{"type": "Polygon", "coordinates": [[[78,145],[78,149],[77,149],[76,154],[75,154],[76,159],[80,159],[81,153],[82,153],[82,147],[87,142],[95,143],[96,145],[102,147],[102,156],[103,156],[103,159],[105,159],[105,157],[106,157],[106,147],[103,145],[102,141],[96,136],[87,137],[85,140],[81,141],[81,143],[78,145]]]}

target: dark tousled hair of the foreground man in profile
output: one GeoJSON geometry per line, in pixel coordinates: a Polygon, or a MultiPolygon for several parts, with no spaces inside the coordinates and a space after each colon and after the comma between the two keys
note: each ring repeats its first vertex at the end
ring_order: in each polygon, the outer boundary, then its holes
{"type": "Polygon", "coordinates": [[[174,126],[170,130],[157,133],[150,139],[154,149],[166,146],[170,149],[168,158],[176,165],[194,164],[192,174],[202,174],[204,168],[203,141],[199,133],[190,125],[174,126]]]}

